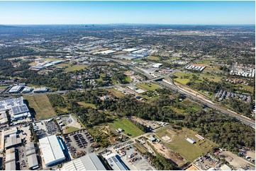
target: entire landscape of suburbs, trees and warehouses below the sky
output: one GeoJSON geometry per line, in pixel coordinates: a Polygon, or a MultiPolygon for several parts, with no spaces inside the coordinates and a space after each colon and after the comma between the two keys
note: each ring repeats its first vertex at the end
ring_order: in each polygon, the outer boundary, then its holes
{"type": "Polygon", "coordinates": [[[255,170],[255,25],[0,25],[0,170],[255,170]]]}

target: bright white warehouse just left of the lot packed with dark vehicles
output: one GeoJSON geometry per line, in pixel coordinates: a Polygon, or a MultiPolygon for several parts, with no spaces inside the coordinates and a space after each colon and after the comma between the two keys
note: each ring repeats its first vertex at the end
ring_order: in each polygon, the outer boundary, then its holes
{"type": "Polygon", "coordinates": [[[63,145],[57,136],[46,136],[45,138],[39,139],[39,143],[46,166],[54,165],[65,160],[65,155],[62,151],[63,145]]]}

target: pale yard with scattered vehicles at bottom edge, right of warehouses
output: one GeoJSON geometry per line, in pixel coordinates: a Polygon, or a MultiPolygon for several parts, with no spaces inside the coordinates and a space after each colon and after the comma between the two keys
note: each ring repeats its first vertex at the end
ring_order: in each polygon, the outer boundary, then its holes
{"type": "Polygon", "coordinates": [[[138,153],[138,150],[133,145],[120,148],[116,151],[121,156],[123,163],[125,163],[130,170],[156,170],[152,167],[148,160],[138,153]]]}

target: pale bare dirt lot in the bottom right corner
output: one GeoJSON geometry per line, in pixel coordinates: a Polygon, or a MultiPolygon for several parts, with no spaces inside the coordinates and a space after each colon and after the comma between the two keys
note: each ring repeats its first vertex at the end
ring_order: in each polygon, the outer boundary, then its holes
{"type": "Polygon", "coordinates": [[[249,170],[255,170],[255,165],[252,165],[252,163],[248,162],[244,158],[240,158],[237,155],[231,153],[230,151],[223,151],[222,153],[219,153],[219,155],[225,155],[225,160],[230,163],[233,167],[235,167],[236,170],[240,168],[244,168],[246,165],[250,166],[249,170]]]}

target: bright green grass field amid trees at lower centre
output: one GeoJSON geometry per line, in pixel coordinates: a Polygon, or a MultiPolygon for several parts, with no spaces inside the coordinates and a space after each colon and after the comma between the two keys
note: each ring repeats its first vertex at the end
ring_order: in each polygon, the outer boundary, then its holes
{"type": "Polygon", "coordinates": [[[130,137],[140,136],[141,134],[144,134],[143,131],[138,129],[135,124],[133,124],[126,118],[116,119],[115,122],[109,123],[108,125],[113,127],[114,129],[123,129],[123,133],[126,135],[130,134],[130,137]]]}

